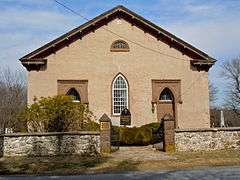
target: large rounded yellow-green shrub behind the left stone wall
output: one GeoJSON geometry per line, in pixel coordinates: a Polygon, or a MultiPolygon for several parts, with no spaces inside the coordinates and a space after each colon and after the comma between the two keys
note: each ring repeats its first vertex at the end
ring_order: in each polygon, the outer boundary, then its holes
{"type": "Polygon", "coordinates": [[[65,132],[98,129],[88,107],[70,96],[41,98],[18,115],[33,132],[65,132]]]}

